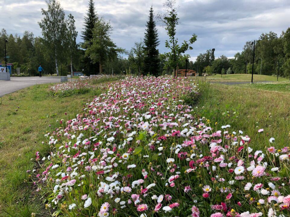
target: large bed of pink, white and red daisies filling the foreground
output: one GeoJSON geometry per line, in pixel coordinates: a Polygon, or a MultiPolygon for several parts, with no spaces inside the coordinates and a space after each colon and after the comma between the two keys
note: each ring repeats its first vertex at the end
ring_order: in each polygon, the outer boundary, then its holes
{"type": "MultiPolygon", "coordinates": [[[[289,216],[289,147],[265,151],[182,99],[187,79],[127,77],[46,134],[33,171],[62,216],[289,216]]],[[[258,132],[257,132],[258,133],[258,132]]],[[[259,130],[263,133],[263,130],[259,130]]],[[[273,143],[273,144],[272,144],[273,143]]]]}

